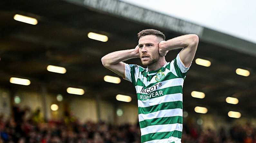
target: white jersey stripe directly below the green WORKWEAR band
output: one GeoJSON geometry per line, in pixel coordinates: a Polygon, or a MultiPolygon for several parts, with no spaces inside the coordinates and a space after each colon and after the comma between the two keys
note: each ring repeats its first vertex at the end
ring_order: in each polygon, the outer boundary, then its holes
{"type": "Polygon", "coordinates": [[[148,107],[148,106],[153,106],[160,103],[172,102],[172,101],[183,101],[182,93],[166,94],[165,96],[160,96],[160,97],[152,98],[148,100],[138,100],[138,107],[148,107]]]}

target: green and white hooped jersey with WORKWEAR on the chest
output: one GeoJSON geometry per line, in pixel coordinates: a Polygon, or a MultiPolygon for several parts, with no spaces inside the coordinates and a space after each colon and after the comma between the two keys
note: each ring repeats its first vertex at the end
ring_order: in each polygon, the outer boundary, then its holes
{"type": "Polygon", "coordinates": [[[142,143],[181,143],[182,87],[189,67],[179,54],[156,71],[125,64],[124,79],[137,92],[142,143]]]}

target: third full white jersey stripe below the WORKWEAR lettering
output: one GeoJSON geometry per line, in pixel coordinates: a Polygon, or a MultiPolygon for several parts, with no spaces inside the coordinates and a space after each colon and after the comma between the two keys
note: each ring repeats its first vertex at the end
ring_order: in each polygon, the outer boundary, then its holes
{"type": "Polygon", "coordinates": [[[175,131],[175,130],[182,131],[182,124],[174,123],[174,124],[165,124],[165,125],[153,125],[153,126],[148,126],[146,128],[140,129],[142,136],[149,133],[175,131]]]}

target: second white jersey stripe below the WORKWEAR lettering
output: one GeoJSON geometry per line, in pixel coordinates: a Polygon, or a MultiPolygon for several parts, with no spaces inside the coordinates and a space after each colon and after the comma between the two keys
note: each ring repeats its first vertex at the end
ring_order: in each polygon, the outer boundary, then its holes
{"type": "Polygon", "coordinates": [[[180,108],[175,109],[167,109],[167,110],[160,110],[153,113],[148,114],[139,114],[139,122],[143,120],[149,120],[154,118],[161,118],[161,117],[171,117],[171,116],[183,116],[183,111],[180,108]]]}

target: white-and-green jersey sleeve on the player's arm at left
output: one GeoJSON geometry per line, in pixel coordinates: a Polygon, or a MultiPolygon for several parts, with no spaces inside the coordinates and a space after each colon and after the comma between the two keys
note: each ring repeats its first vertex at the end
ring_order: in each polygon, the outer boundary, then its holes
{"type": "Polygon", "coordinates": [[[129,65],[129,64],[125,64],[124,65],[124,79],[128,80],[129,82],[133,83],[133,85],[136,85],[137,82],[137,76],[138,76],[138,70],[139,67],[137,65],[129,65]]]}

